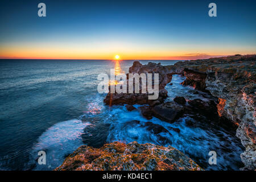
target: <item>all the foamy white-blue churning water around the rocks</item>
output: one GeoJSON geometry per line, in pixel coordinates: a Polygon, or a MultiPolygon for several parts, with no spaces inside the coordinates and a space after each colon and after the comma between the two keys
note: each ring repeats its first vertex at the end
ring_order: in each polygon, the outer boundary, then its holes
{"type": "MultiPolygon", "coordinates": [[[[168,100],[176,96],[184,96],[189,99],[200,98],[208,100],[210,96],[203,93],[194,94],[191,91],[193,88],[180,85],[184,77],[174,76],[173,85],[168,86],[168,100]],[[173,86],[176,92],[171,89],[173,86]],[[172,95],[172,93],[175,93],[172,95]],[[178,94],[177,94],[178,93],[178,94]]],[[[81,135],[86,132],[87,125],[93,125],[97,133],[92,133],[92,143],[99,143],[100,140],[105,139],[105,142],[121,141],[130,143],[136,140],[139,143],[154,143],[162,146],[172,146],[187,154],[190,158],[195,160],[204,169],[210,170],[238,170],[242,167],[240,154],[242,147],[240,141],[228,131],[220,127],[212,126],[209,123],[200,123],[197,127],[188,127],[186,121],[192,118],[180,118],[175,123],[167,123],[160,121],[160,119],[153,117],[148,120],[139,113],[139,110],[127,111],[125,105],[123,106],[105,106],[102,100],[105,94],[96,94],[93,98],[88,98],[88,111],[80,116],[81,120],[71,120],[61,122],[51,127],[39,138],[39,143],[36,144],[35,151],[45,148],[50,154],[52,162],[48,169],[57,167],[65,158],[65,156],[82,145],[81,135]],[[139,121],[139,122],[138,122],[139,121]],[[162,126],[168,130],[168,133],[154,134],[154,132],[147,130],[144,125],[147,122],[162,126]],[[109,123],[108,136],[104,137],[104,132],[101,131],[101,126],[109,123]],[[85,127],[85,130],[83,131],[85,127]],[[172,130],[171,127],[180,130],[180,133],[172,130]],[[160,137],[160,139],[159,139],[160,137]],[[64,147],[65,146],[65,147],[64,147]],[[211,166],[208,164],[209,151],[217,152],[217,165],[211,166]]],[[[138,108],[141,105],[134,105],[138,108]]],[[[87,143],[85,143],[87,144],[87,143]]],[[[100,146],[96,146],[100,147],[100,146]]],[[[44,167],[37,166],[35,169],[44,169],[44,167]]]]}

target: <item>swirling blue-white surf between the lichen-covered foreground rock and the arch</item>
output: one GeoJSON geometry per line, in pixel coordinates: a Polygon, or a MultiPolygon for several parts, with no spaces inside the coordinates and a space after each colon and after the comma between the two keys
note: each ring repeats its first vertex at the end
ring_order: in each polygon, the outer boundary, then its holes
{"type": "MultiPolygon", "coordinates": [[[[134,105],[138,107],[139,105],[134,105]]],[[[214,128],[208,128],[209,124],[200,123],[200,127],[188,127],[187,120],[192,118],[180,118],[175,123],[168,123],[153,117],[150,120],[142,117],[138,110],[127,111],[125,106],[112,106],[106,121],[112,122],[110,127],[108,142],[122,141],[125,143],[136,140],[138,143],[154,143],[162,146],[172,146],[184,152],[192,159],[203,164],[204,169],[214,170],[238,170],[237,163],[240,163],[240,153],[242,149],[236,137],[226,133],[226,131],[214,128]],[[130,122],[138,120],[137,122],[130,122]],[[159,140],[158,134],[154,134],[143,127],[143,123],[152,122],[164,127],[168,133],[160,133],[163,138],[159,140]],[[178,128],[179,133],[172,130],[171,127],[178,128]],[[218,165],[210,166],[208,164],[208,152],[217,152],[218,165]]],[[[157,127],[157,126],[156,126],[157,127]]]]}

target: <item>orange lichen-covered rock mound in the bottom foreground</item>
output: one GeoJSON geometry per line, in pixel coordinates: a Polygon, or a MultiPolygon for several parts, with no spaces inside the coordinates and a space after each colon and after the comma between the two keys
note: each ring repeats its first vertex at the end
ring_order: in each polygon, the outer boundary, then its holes
{"type": "Polygon", "coordinates": [[[81,146],[69,155],[60,170],[203,170],[192,159],[171,146],[113,142],[101,148],[81,146]]]}

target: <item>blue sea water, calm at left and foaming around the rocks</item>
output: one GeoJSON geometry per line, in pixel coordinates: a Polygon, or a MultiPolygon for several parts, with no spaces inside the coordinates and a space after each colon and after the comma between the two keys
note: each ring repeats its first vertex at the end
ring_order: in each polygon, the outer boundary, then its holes
{"type": "MultiPolygon", "coordinates": [[[[149,61],[141,61],[147,64],[149,61]]],[[[171,65],[176,61],[153,61],[171,65]]],[[[65,156],[82,144],[99,147],[105,142],[122,141],[171,145],[194,159],[205,169],[242,167],[240,140],[233,133],[207,123],[187,127],[181,118],[170,124],[152,118],[150,122],[165,127],[172,136],[163,140],[132,120],[147,122],[138,110],[125,106],[106,106],[106,94],[97,92],[100,73],[110,69],[128,72],[133,61],[110,60],[1,60],[0,61],[0,169],[52,170],[65,156]],[[180,133],[168,127],[177,127],[180,133]],[[47,154],[47,164],[36,163],[38,151],[47,154]],[[217,152],[217,165],[208,164],[208,152],[217,152]]],[[[175,96],[188,99],[208,96],[193,93],[180,85],[185,78],[175,75],[167,85],[168,100],[175,96]]],[[[139,105],[135,105],[138,107],[139,105]]]]}

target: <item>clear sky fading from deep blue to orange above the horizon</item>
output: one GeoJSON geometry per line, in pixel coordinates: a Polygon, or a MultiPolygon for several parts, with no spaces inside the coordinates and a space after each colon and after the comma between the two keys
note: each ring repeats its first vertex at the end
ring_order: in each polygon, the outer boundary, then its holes
{"type": "Polygon", "coordinates": [[[0,59],[184,60],[256,53],[256,1],[0,1],[0,59]],[[46,17],[38,4],[46,4],[46,17]],[[217,5],[210,17],[209,3],[217,5]]]}

